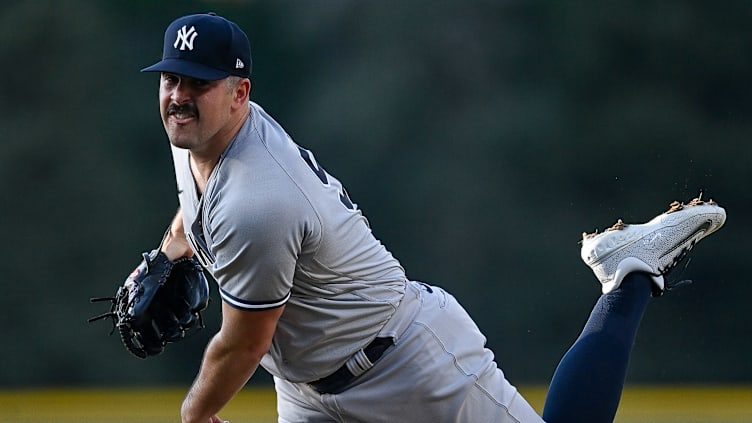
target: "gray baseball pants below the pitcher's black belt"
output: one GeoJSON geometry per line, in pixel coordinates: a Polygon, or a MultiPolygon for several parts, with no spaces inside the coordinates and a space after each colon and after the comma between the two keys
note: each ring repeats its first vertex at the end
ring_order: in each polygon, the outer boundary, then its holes
{"type": "Polygon", "coordinates": [[[275,378],[279,422],[543,422],[441,288],[409,283],[380,335],[393,336],[394,346],[344,392],[320,394],[275,378]]]}

